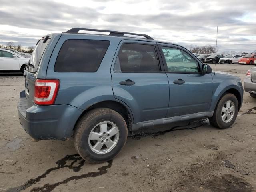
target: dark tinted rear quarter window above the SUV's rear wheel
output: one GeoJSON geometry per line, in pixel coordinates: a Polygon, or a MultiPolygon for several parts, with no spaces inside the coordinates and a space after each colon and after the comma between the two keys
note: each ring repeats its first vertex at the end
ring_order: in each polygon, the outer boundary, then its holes
{"type": "Polygon", "coordinates": [[[56,72],[96,72],[110,42],[102,40],[66,40],[58,54],[56,72]]]}

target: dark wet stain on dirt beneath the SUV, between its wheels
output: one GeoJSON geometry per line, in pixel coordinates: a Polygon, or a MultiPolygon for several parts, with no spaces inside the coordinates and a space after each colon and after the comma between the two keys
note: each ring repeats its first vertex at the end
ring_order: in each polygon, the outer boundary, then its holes
{"type": "Polygon", "coordinates": [[[129,135],[129,138],[139,140],[142,137],[146,136],[151,136],[153,138],[156,138],[157,136],[164,135],[166,133],[172,132],[172,131],[178,131],[178,130],[195,130],[196,128],[200,126],[206,126],[210,125],[210,122],[208,119],[203,119],[203,120],[197,120],[193,122],[187,122],[185,125],[180,125],[180,126],[174,126],[168,130],[164,131],[157,131],[157,132],[139,132],[136,134],[129,135]]]}

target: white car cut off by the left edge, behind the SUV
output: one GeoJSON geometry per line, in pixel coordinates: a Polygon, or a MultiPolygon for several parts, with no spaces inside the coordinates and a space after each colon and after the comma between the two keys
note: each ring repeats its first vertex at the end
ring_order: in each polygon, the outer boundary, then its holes
{"type": "Polygon", "coordinates": [[[29,58],[0,48],[0,71],[21,71],[23,73],[28,60],[29,58]]]}

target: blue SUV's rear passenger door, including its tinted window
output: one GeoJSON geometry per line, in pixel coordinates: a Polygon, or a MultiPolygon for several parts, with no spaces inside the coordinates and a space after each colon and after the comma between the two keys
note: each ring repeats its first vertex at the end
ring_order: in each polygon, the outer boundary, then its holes
{"type": "Polygon", "coordinates": [[[134,123],[166,117],[169,84],[161,71],[156,43],[122,41],[111,75],[114,97],[130,107],[134,123]]]}

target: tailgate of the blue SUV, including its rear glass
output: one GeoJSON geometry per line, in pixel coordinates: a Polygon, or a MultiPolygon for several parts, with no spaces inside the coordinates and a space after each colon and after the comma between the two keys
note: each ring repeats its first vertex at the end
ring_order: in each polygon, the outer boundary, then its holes
{"type": "Polygon", "coordinates": [[[44,36],[39,40],[35,50],[33,51],[27,70],[24,72],[25,77],[25,94],[27,102],[30,106],[34,104],[34,91],[35,91],[35,81],[37,78],[37,69],[39,67],[42,55],[51,40],[52,34],[44,36]]]}

